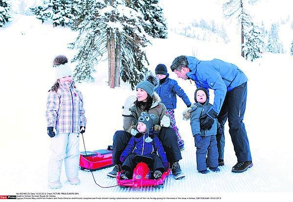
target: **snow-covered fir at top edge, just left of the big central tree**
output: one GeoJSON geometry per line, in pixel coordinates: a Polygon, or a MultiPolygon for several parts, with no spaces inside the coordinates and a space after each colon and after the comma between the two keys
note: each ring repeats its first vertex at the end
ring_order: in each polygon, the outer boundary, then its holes
{"type": "Polygon", "coordinates": [[[37,19],[52,19],[53,26],[72,25],[72,19],[77,14],[76,4],[79,0],[44,0],[41,5],[31,8],[37,19]]]}

